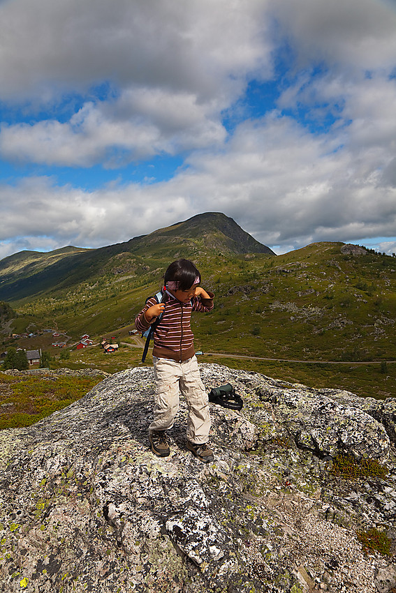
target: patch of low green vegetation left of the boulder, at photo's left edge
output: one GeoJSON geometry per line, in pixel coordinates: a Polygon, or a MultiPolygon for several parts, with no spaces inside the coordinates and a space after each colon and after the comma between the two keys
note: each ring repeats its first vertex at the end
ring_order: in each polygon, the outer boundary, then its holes
{"type": "Polygon", "coordinates": [[[85,395],[101,377],[22,377],[0,373],[0,429],[31,426],[85,395]]]}

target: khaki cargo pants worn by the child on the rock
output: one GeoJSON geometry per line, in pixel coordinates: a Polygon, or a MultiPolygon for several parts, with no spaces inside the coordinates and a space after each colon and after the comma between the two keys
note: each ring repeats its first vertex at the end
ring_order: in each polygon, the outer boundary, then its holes
{"type": "Polygon", "coordinates": [[[182,393],[189,408],[188,440],[196,444],[207,442],[210,430],[209,404],[196,356],[181,363],[155,356],[153,361],[156,393],[154,420],[149,432],[172,428],[179,410],[179,393],[182,393]]]}

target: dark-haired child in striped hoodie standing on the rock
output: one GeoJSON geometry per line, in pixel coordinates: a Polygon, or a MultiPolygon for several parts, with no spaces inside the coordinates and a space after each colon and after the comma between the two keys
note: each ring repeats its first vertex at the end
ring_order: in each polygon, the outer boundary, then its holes
{"type": "Polygon", "coordinates": [[[187,449],[204,463],[209,463],[213,461],[213,453],[206,444],[210,412],[194,352],[190,320],[193,311],[205,313],[212,310],[214,294],[200,287],[200,273],[189,260],[170,264],[164,278],[165,302],[157,303],[155,297],[148,299],[135,319],[136,329],[146,331],[163,313],[154,329],[156,394],[149,442],[156,455],[169,455],[166,430],[173,426],[180,391],[189,408],[187,449]]]}

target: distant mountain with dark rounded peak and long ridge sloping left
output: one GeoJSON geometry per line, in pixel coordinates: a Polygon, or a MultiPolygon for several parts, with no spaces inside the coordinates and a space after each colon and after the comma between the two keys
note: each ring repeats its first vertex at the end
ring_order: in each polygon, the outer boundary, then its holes
{"type": "Polygon", "coordinates": [[[22,251],[0,261],[0,300],[20,301],[70,290],[86,280],[106,274],[142,276],[177,257],[196,259],[214,250],[243,255],[266,253],[270,248],[221,213],[204,213],[171,227],[156,230],[126,243],[98,249],[66,247],[50,253],[22,251]]]}

